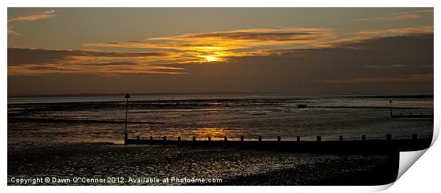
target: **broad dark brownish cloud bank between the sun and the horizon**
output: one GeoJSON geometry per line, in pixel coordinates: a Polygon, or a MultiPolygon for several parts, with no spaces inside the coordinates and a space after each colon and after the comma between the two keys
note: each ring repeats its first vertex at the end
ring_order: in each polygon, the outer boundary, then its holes
{"type": "Polygon", "coordinates": [[[11,84],[11,88],[20,87],[20,92],[33,91],[35,85],[41,85],[36,89],[38,92],[43,87],[68,92],[84,92],[84,87],[90,87],[93,92],[97,89],[109,92],[103,84],[112,84],[115,91],[138,88],[144,92],[209,91],[213,88],[285,93],[430,92],[433,89],[433,38],[432,33],[405,34],[327,48],[257,49],[251,56],[228,57],[228,62],[208,62],[213,65],[207,62],[204,65],[159,65],[169,57],[172,60],[191,57],[188,55],[193,53],[188,51],[134,53],[9,48],[8,78],[11,83],[18,82],[11,84]],[[140,75],[132,75],[136,73],[140,75]],[[122,75],[131,82],[143,83],[115,84],[122,75]],[[90,82],[101,76],[107,78],[98,83],[90,82]],[[48,81],[55,78],[57,81],[48,81]],[[66,88],[65,85],[75,87],[66,88]],[[363,87],[365,85],[367,87],[363,87]]]}

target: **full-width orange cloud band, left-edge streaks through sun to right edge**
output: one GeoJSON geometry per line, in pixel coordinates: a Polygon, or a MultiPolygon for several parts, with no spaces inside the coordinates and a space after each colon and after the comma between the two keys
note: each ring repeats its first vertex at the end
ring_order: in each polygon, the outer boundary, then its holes
{"type": "MultiPolygon", "coordinates": [[[[137,48],[151,51],[8,49],[8,75],[83,73],[117,75],[136,73],[185,74],[184,64],[225,64],[239,57],[303,55],[321,48],[360,50],[368,40],[433,31],[432,26],[337,33],[326,28],[247,29],[191,33],[143,41],[88,43],[97,48],[137,48]],[[344,36],[346,35],[346,36],[344,36]],[[281,48],[281,49],[277,49],[281,48]],[[152,51],[154,50],[154,51],[152,51]],[[307,52],[309,50],[310,52],[307,52]],[[26,55],[26,57],[23,57],[26,55]],[[182,66],[182,67],[181,67],[182,66]]],[[[430,36],[430,34],[425,34],[430,36]]],[[[413,36],[418,36],[414,34],[413,36]]],[[[424,36],[424,37],[426,37],[424,36]]],[[[383,45],[382,47],[384,47],[383,45]]],[[[376,48],[378,49],[378,48],[376,48]]],[[[375,64],[374,64],[375,65],[375,64]]],[[[366,66],[373,68],[374,66],[366,66]]],[[[399,67],[399,66],[393,66],[399,67]]]]}

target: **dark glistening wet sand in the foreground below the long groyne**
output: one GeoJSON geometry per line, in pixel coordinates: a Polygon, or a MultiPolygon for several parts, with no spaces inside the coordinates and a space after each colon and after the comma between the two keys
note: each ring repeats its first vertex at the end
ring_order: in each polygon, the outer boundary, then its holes
{"type": "Polygon", "coordinates": [[[396,155],[283,153],[172,145],[71,143],[8,148],[11,177],[106,178],[124,183],[31,185],[376,185],[395,180],[396,155]],[[129,177],[219,178],[221,183],[127,182],[129,177]]]}

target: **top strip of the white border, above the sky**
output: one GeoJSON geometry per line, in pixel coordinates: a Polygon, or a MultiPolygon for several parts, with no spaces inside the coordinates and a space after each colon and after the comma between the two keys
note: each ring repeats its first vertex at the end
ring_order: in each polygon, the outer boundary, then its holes
{"type": "Polygon", "coordinates": [[[223,0],[223,1],[205,1],[205,0],[161,0],[161,1],[137,1],[137,0],[77,0],[77,1],[30,1],[15,0],[8,1],[6,6],[28,6],[28,7],[63,7],[63,6],[83,6],[83,7],[133,7],[133,6],[151,6],[151,7],[432,7],[435,1],[430,0],[370,0],[370,1],[345,1],[345,0],[308,0],[308,1],[283,1],[283,0],[223,0]]]}

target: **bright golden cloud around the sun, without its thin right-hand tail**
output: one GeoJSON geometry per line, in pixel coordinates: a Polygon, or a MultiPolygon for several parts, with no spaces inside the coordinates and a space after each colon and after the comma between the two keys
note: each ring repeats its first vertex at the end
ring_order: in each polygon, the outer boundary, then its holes
{"type": "MultiPolygon", "coordinates": [[[[189,33],[143,41],[87,43],[90,47],[167,49],[181,52],[186,62],[220,62],[227,57],[251,55],[268,46],[291,45],[302,48],[323,47],[338,38],[328,28],[256,28],[238,31],[189,33]]],[[[178,61],[176,61],[178,62],[178,61]]]]}

